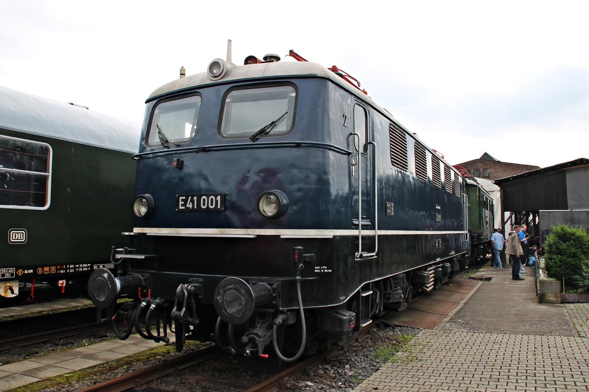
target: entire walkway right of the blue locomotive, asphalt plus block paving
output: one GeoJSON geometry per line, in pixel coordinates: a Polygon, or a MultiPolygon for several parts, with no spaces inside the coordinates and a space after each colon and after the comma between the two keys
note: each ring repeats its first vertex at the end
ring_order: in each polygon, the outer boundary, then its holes
{"type": "Polygon", "coordinates": [[[532,275],[485,269],[491,282],[452,319],[422,330],[355,391],[589,390],[589,304],[538,304],[532,275]]]}

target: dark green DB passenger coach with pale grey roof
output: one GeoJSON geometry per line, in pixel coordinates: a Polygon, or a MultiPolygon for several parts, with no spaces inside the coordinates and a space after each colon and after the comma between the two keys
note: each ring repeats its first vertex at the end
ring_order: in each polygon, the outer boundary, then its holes
{"type": "Polygon", "coordinates": [[[0,87],[0,305],[85,287],[132,227],[140,126],[0,87]],[[25,290],[24,290],[25,289],[25,290]],[[33,294],[33,295],[31,295],[33,294]],[[24,297],[24,298],[23,298],[24,297]]]}

